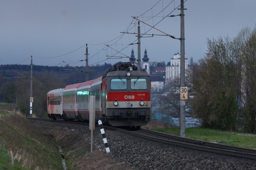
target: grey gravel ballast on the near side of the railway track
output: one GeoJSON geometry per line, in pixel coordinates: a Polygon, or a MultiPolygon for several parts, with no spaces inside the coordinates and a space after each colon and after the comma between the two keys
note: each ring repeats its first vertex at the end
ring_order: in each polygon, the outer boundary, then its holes
{"type": "MultiPolygon", "coordinates": [[[[70,129],[90,143],[88,126],[31,121],[39,127],[70,129]]],[[[95,125],[94,150],[104,150],[105,146],[100,128],[95,125]]],[[[119,164],[124,164],[133,170],[254,170],[256,161],[200,152],[186,148],[166,146],[131,137],[117,131],[105,130],[110,154],[119,164]]]]}

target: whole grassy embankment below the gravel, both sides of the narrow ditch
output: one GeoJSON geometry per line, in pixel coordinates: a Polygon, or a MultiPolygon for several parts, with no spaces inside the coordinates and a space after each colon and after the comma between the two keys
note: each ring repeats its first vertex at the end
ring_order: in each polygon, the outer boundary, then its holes
{"type": "Polygon", "coordinates": [[[0,170],[61,170],[58,146],[69,170],[130,169],[116,163],[104,151],[90,152],[90,141],[73,129],[38,127],[21,114],[0,111],[0,170]],[[14,167],[9,148],[13,151],[14,167]]]}

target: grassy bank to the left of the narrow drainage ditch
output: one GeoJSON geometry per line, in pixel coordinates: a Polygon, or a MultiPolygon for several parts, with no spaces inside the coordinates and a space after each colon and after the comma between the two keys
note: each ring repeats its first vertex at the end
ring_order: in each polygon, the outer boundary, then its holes
{"type": "Polygon", "coordinates": [[[0,169],[61,169],[56,143],[22,115],[0,111],[0,169]],[[9,148],[13,150],[14,167],[9,148]]]}

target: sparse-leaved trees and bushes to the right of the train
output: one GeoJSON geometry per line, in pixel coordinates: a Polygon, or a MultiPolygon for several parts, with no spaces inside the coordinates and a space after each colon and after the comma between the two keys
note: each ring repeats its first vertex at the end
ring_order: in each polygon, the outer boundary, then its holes
{"type": "MultiPolygon", "coordinates": [[[[244,28],[233,39],[207,39],[207,55],[190,63],[186,114],[206,128],[256,133],[256,28],[244,28]]],[[[168,95],[154,98],[154,108],[179,116],[179,87],[179,79],[166,82],[168,95]]]]}

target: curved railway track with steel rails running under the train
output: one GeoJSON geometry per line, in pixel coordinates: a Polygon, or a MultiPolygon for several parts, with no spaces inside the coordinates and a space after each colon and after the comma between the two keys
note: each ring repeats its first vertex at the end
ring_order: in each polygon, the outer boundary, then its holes
{"type": "MultiPolygon", "coordinates": [[[[62,122],[62,123],[73,123],[73,124],[83,124],[81,122],[67,122],[64,120],[52,120],[49,118],[28,118],[31,120],[43,120],[43,121],[53,121],[53,122],[62,122]]],[[[188,139],[183,137],[178,137],[175,135],[169,135],[166,133],[161,133],[157,131],[152,131],[148,129],[140,129],[137,131],[129,131],[125,129],[119,129],[116,127],[104,126],[104,129],[111,129],[114,131],[119,131],[120,133],[126,133],[128,135],[138,137],[144,140],[149,140],[152,142],[157,142],[159,144],[179,146],[182,148],[188,148],[192,150],[198,150],[203,152],[217,153],[222,155],[230,155],[233,157],[241,157],[246,159],[256,160],[256,150],[235,147],[230,145],[218,144],[213,142],[205,142],[201,140],[188,139]]]]}

